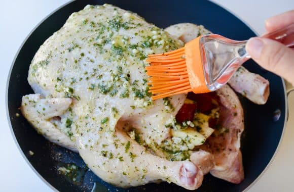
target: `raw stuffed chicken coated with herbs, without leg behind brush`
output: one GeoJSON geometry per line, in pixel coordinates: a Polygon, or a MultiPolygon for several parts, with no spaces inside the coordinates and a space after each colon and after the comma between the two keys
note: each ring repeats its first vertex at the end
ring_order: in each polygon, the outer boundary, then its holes
{"type": "Polygon", "coordinates": [[[88,5],[35,54],[28,75],[35,94],[22,98],[22,114],[116,186],[167,181],[194,190],[208,172],[239,183],[244,125],[233,90],[200,100],[152,101],[148,92],[146,57],[178,49],[195,36],[191,30],[172,34],[118,7],[88,5]]]}

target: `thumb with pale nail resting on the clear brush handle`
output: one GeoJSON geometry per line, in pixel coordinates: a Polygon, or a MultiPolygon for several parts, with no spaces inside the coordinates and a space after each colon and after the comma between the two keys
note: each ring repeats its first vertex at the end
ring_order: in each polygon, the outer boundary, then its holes
{"type": "Polygon", "coordinates": [[[246,51],[263,68],[294,85],[294,51],[280,42],[262,37],[250,38],[246,51]]]}

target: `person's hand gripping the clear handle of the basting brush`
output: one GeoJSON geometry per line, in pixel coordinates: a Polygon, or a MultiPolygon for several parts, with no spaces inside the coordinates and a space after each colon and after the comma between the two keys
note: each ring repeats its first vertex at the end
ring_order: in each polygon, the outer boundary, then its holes
{"type": "MultiPolygon", "coordinates": [[[[272,32],[294,23],[294,10],[266,20],[266,30],[272,32]]],[[[246,51],[263,68],[285,78],[294,85],[294,49],[264,37],[252,37],[246,51]]]]}

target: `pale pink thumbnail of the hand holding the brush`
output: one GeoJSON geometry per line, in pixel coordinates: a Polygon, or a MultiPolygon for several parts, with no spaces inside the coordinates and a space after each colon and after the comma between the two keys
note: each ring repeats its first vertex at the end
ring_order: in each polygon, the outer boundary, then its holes
{"type": "Polygon", "coordinates": [[[246,44],[246,51],[254,58],[259,59],[263,50],[264,42],[258,37],[252,37],[246,44]]]}

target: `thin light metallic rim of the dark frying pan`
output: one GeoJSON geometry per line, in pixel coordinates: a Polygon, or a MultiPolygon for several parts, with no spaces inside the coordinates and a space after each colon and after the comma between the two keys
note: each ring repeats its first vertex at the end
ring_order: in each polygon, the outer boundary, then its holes
{"type": "MultiPolygon", "coordinates": [[[[19,49],[17,50],[14,59],[12,61],[12,64],[10,66],[9,69],[9,73],[8,73],[8,77],[7,77],[7,81],[6,81],[6,93],[5,93],[5,105],[6,105],[6,115],[7,115],[7,120],[8,120],[8,124],[9,124],[9,128],[10,128],[10,132],[13,136],[13,140],[16,144],[16,147],[18,148],[18,150],[20,151],[21,156],[25,159],[26,163],[29,165],[29,167],[36,173],[36,175],[39,176],[39,178],[41,178],[41,180],[43,180],[51,189],[53,189],[54,191],[58,191],[51,183],[49,183],[33,166],[32,164],[29,162],[28,158],[25,156],[24,152],[22,151],[22,149],[20,148],[20,145],[16,139],[15,133],[13,131],[12,128],[12,124],[11,124],[11,120],[10,120],[10,116],[9,116],[9,107],[8,107],[8,89],[9,89],[9,82],[10,82],[10,78],[11,78],[11,73],[12,73],[12,69],[14,67],[16,58],[19,55],[19,52],[21,51],[23,45],[25,44],[25,42],[27,41],[27,39],[31,36],[31,34],[46,20],[48,19],[50,16],[52,16],[55,12],[57,12],[58,10],[62,9],[63,7],[67,6],[68,4],[71,4],[72,2],[75,2],[76,0],[70,0],[69,2],[59,6],[58,8],[56,8],[55,10],[53,10],[49,15],[47,15],[44,19],[42,19],[30,32],[29,34],[25,37],[25,39],[23,40],[23,42],[21,43],[19,49]]],[[[219,5],[218,3],[214,2],[213,0],[209,0],[209,2],[217,5],[218,7],[226,10],[227,12],[231,13],[234,17],[236,17],[237,19],[239,19],[241,22],[243,22],[251,31],[253,31],[254,34],[258,35],[259,33],[257,33],[247,22],[245,22],[243,19],[241,19],[237,14],[235,14],[234,12],[232,12],[230,9],[223,7],[222,5],[219,5]]],[[[280,77],[281,78],[281,77],[280,77]]],[[[285,117],[284,117],[284,125],[283,125],[283,130],[282,130],[282,134],[279,140],[279,143],[277,145],[277,148],[272,156],[272,158],[270,159],[270,161],[268,162],[267,166],[264,168],[264,170],[259,174],[258,177],[256,177],[251,184],[249,184],[243,191],[248,191],[256,182],[258,182],[258,180],[267,172],[267,170],[269,169],[269,167],[271,166],[273,160],[275,159],[278,151],[280,150],[280,146],[281,146],[281,142],[284,138],[284,133],[285,133],[285,129],[286,129],[286,125],[287,125],[287,119],[288,119],[288,98],[287,98],[287,93],[286,93],[286,85],[285,85],[285,81],[283,78],[281,78],[282,80],[282,84],[283,84],[283,90],[284,90],[284,97],[285,97],[285,117]]]]}

